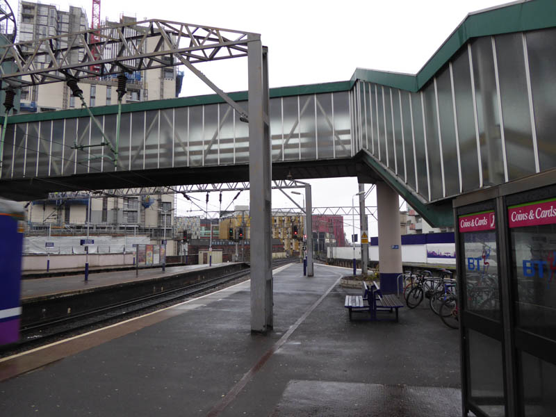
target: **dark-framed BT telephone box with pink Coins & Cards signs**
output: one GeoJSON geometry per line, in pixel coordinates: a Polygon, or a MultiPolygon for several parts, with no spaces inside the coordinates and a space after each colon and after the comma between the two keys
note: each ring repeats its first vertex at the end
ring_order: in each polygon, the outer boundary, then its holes
{"type": "Polygon", "coordinates": [[[454,201],[463,415],[556,415],[556,172],[454,201]]]}

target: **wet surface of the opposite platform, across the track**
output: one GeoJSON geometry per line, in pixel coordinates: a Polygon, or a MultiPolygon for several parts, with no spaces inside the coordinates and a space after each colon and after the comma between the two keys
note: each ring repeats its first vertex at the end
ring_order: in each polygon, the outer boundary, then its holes
{"type": "MultiPolygon", "coordinates": [[[[212,267],[222,265],[231,265],[232,263],[213,263],[212,267]]],[[[113,284],[122,284],[124,282],[140,281],[142,279],[156,279],[162,277],[170,277],[172,275],[183,272],[191,272],[202,268],[211,268],[208,265],[183,265],[166,267],[165,272],[162,268],[148,268],[127,271],[99,272],[89,275],[88,281],[84,281],[83,273],[76,275],[67,275],[65,277],[49,277],[22,279],[22,299],[39,297],[41,295],[52,295],[65,293],[68,291],[79,291],[88,288],[97,288],[101,286],[109,286],[113,284]]]]}

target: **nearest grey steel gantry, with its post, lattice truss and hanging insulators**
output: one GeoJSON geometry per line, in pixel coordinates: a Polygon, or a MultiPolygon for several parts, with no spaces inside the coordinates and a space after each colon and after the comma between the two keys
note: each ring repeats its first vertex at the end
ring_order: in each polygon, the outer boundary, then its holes
{"type": "MultiPolygon", "coordinates": [[[[8,114],[17,88],[64,81],[75,97],[82,98],[77,82],[142,70],[184,65],[214,90],[249,124],[250,202],[254,230],[251,270],[251,329],[266,332],[272,327],[272,248],[270,244],[270,97],[268,90],[268,49],[261,35],[211,26],[149,19],[67,33],[18,44],[0,45],[0,89],[6,90],[6,117],[2,129],[4,143],[8,114]],[[247,111],[220,90],[195,67],[195,63],[247,57],[247,111]],[[249,117],[251,115],[251,117],[249,117]]],[[[123,94],[123,93],[122,93],[123,94]]],[[[121,104],[117,126],[120,126],[121,104]]],[[[94,116],[90,113],[90,116],[94,116]]],[[[96,120],[95,120],[96,122],[96,120]]],[[[97,125],[98,122],[96,122],[97,125]]],[[[102,130],[102,129],[101,129],[102,130]]],[[[117,167],[119,129],[115,140],[103,137],[110,158],[117,167]]],[[[100,146],[95,145],[95,146],[100,146]]],[[[75,147],[78,145],[76,144],[75,147]]],[[[3,149],[0,147],[0,161],[3,149]]]]}

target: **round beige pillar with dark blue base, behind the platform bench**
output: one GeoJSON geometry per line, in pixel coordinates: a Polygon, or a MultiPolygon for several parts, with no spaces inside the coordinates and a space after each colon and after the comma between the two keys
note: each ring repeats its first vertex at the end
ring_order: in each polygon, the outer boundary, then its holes
{"type": "Polygon", "coordinates": [[[400,284],[396,284],[396,278],[403,270],[398,204],[398,193],[387,183],[377,182],[380,288],[386,294],[397,291],[400,284]]]}

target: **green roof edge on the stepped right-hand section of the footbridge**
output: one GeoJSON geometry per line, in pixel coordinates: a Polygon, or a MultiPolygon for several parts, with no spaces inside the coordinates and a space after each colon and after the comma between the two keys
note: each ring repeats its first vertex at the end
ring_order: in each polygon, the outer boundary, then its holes
{"type": "Polygon", "coordinates": [[[556,26],[556,1],[554,0],[519,1],[484,10],[468,15],[417,74],[357,68],[350,83],[353,86],[359,79],[417,92],[471,38],[534,31],[553,26],[556,26]]]}

